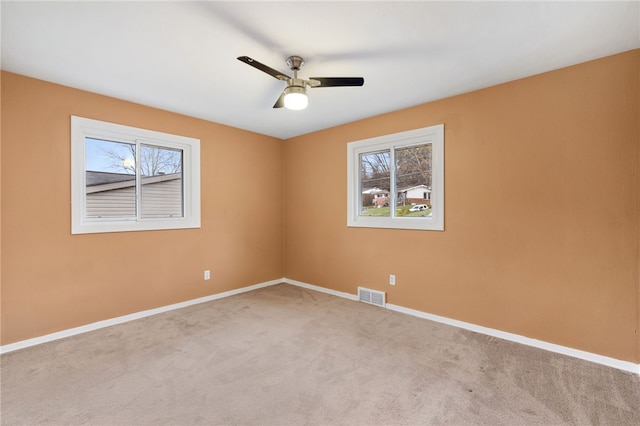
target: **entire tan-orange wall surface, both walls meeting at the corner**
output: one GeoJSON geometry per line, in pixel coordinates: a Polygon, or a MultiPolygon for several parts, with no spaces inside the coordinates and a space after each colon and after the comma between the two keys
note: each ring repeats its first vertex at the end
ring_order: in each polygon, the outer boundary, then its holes
{"type": "Polygon", "coordinates": [[[3,72],[1,343],[286,276],[640,362],[639,82],[636,50],[283,143],[3,72]],[[72,236],[71,114],[200,138],[202,228],[72,236]],[[347,228],[346,143],[438,123],[446,230],[347,228]]]}

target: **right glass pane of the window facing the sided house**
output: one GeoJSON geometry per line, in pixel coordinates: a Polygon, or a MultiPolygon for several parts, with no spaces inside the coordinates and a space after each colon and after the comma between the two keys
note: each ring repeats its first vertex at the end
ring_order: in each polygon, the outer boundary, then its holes
{"type": "Polygon", "coordinates": [[[183,217],[182,150],[140,146],[141,217],[183,217]]]}

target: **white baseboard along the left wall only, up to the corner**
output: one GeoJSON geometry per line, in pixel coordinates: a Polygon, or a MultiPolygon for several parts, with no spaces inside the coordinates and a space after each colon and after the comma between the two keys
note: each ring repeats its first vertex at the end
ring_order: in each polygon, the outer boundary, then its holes
{"type": "Polygon", "coordinates": [[[284,279],[266,281],[260,284],[250,285],[248,287],[229,290],[223,293],[212,294],[210,296],[204,296],[197,299],[187,300],[185,302],[174,303],[172,305],[161,306],[159,308],[149,309],[146,311],[135,312],[133,314],[123,315],[121,317],[111,318],[104,321],[98,321],[91,324],[82,325],[80,327],[58,331],[56,333],[47,334],[45,336],[34,337],[33,339],[22,340],[16,343],[10,343],[8,345],[0,346],[0,354],[16,351],[18,349],[28,348],[30,346],[39,345],[41,343],[47,343],[47,342],[52,342],[54,340],[64,339],[65,337],[71,337],[77,334],[87,333],[89,331],[99,330],[105,327],[111,327],[112,325],[118,325],[118,324],[123,324],[129,321],[135,321],[141,318],[161,314],[164,312],[173,311],[176,309],[186,308],[188,306],[197,305],[199,303],[205,303],[205,302],[211,302],[212,300],[223,299],[225,297],[234,296],[240,293],[246,293],[248,291],[257,290],[259,288],[268,287],[275,284],[280,284],[282,282],[284,282],[284,279]]]}

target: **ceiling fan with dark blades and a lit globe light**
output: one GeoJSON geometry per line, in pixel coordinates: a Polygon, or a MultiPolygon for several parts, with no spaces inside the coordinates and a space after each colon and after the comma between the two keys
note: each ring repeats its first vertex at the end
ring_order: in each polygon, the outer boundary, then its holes
{"type": "Polygon", "coordinates": [[[300,68],[304,65],[304,60],[300,56],[289,56],[287,58],[287,65],[291,71],[293,71],[293,78],[248,56],[239,56],[238,60],[257,68],[278,80],[287,82],[287,87],[273,105],[274,108],[286,107],[288,109],[305,109],[308,104],[307,86],[313,88],[364,85],[364,78],[362,77],[311,77],[308,80],[298,78],[298,71],[300,71],[300,68]]]}

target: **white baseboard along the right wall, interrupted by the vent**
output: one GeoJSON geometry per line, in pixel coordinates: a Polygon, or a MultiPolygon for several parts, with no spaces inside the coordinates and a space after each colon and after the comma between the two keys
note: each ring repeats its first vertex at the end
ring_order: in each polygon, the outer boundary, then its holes
{"type": "MultiPolygon", "coordinates": [[[[316,290],[316,291],[331,294],[334,296],[345,297],[350,300],[358,300],[358,297],[356,295],[343,293],[341,291],[335,291],[335,290],[331,290],[323,287],[318,287],[318,286],[303,283],[300,281],[295,281],[295,280],[290,280],[285,278],[284,282],[286,282],[287,284],[297,285],[299,287],[316,290]]],[[[597,364],[606,365],[608,367],[613,367],[619,370],[629,371],[629,372],[640,375],[640,364],[634,364],[633,362],[622,361],[619,359],[610,358],[603,355],[594,354],[591,352],[581,351],[579,349],[573,349],[566,346],[556,345],[554,343],[545,342],[543,340],[536,340],[529,337],[520,336],[519,334],[508,333],[506,331],[500,331],[493,328],[483,327],[480,325],[458,321],[458,320],[454,320],[447,317],[441,317],[439,315],[433,315],[426,312],[417,311],[415,309],[409,309],[403,306],[393,305],[390,303],[386,304],[386,308],[392,311],[401,312],[401,313],[412,315],[418,318],[423,318],[430,321],[451,325],[454,327],[462,328],[464,330],[475,331],[476,333],[485,334],[487,336],[497,337],[497,338],[508,340],[511,342],[532,346],[538,349],[544,349],[550,352],[556,352],[562,355],[567,355],[573,358],[579,358],[586,361],[595,362],[597,364]]]]}

